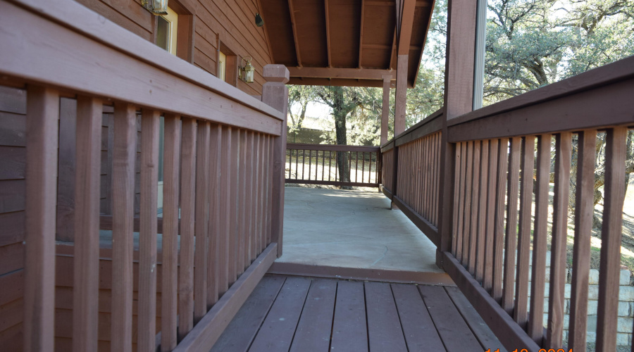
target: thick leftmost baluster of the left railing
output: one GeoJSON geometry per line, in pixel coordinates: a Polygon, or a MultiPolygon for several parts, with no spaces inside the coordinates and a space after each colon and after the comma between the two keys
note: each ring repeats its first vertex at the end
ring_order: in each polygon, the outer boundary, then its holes
{"type": "Polygon", "coordinates": [[[53,351],[59,96],[29,86],[26,116],[24,351],[53,351]]]}

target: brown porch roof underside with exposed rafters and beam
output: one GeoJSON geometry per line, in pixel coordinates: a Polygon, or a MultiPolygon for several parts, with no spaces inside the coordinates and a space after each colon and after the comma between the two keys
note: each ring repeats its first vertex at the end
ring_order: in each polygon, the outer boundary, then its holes
{"type": "Polygon", "coordinates": [[[383,87],[408,55],[414,87],[434,1],[259,0],[273,63],[288,84],[383,87]]]}

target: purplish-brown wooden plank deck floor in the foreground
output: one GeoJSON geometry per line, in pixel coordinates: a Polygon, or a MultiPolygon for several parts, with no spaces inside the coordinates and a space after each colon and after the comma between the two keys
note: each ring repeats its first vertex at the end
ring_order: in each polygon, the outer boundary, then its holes
{"type": "Polygon", "coordinates": [[[211,351],[487,348],[503,351],[456,287],[267,275],[211,351]]]}

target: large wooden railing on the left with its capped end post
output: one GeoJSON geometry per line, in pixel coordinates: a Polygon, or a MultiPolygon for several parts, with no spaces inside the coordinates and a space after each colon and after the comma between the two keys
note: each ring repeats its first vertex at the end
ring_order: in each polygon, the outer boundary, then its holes
{"type": "Polygon", "coordinates": [[[74,234],[58,235],[74,242],[74,273],[58,278],[73,277],[73,350],[97,351],[109,341],[112,351],[132,351],[133,343],[156,351],[160,332],[161,351],[208,351],[281,246],[286,68],[264,68],[269,82],[259,101],[71,0],[49,2],[45,11],[37,1],[0,1],[0,46],[0,84],[26,90],[22,348],[52,351],[68,342],[54,331],[70,324],[56,319],[54,299],[57,182],[68,175],[58,169],[58,147],[68,143],[58,131],[65,97],[76,108],[74,234]],[[114,129],[108,276],[99,275],[106,265],[99,248],[104,104],[113,105],[114,129]],[[104,287],[111,292],[100,299],[104,287]],[[105,327],[99,314],[110,296],[105,327]]]}

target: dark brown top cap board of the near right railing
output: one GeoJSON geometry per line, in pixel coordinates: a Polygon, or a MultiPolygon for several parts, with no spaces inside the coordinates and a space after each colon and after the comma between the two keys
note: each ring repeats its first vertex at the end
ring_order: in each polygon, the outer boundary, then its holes
{"type": "Polygon", "coordinates": [[[447,125],[449,127],[460,125],[632,79],[634,79],[634,56],[466,113],[448,120],[447,125]]]}

